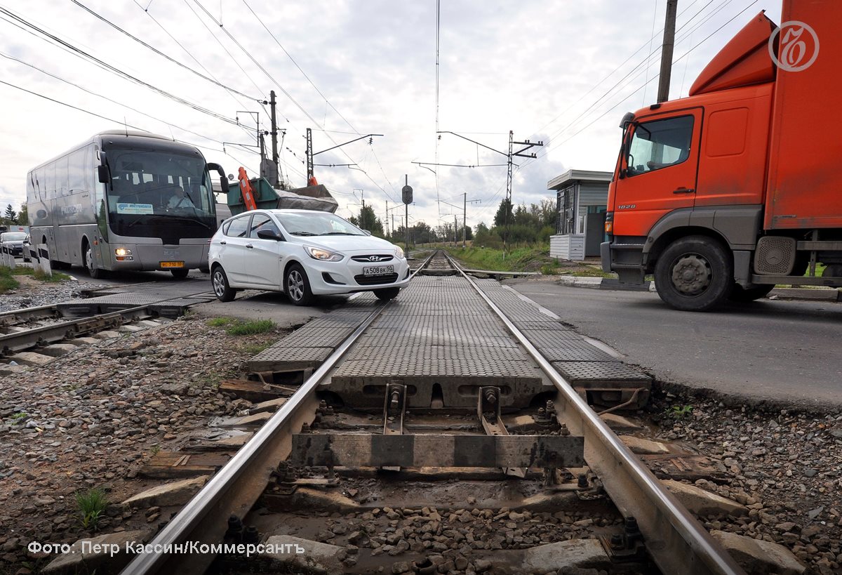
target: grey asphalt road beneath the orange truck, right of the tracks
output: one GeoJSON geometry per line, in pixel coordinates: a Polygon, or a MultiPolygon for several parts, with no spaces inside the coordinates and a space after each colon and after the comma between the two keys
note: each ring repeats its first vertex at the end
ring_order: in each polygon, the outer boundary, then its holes
{"type": "Polygon", "coordinates": [[[842,304],[761,300],[703,314],[657,293],[507,280],[658,380],[781,404],[842,407],[842,304]]]}

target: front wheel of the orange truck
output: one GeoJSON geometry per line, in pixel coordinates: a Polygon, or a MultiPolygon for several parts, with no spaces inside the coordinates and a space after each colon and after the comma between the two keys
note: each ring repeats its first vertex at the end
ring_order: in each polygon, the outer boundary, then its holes
{"type": "Polygon", "coordinates": [[[707,311],[722,304],[733,287],[731,255],[716,239],[677,239],[658,257],[655,286],[666,304],[682,311],[707,311]]]}

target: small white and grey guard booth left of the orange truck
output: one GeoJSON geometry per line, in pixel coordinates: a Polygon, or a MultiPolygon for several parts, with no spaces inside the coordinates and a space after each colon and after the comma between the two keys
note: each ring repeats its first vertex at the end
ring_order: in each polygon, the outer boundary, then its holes
{"type": "Polygon", "coordinates": [[[605,241],[605,211],[611,172],[571,169],[547,182],[556,191],[556,234],[550,256],[560,260],[599,257],[605,241]]]}

